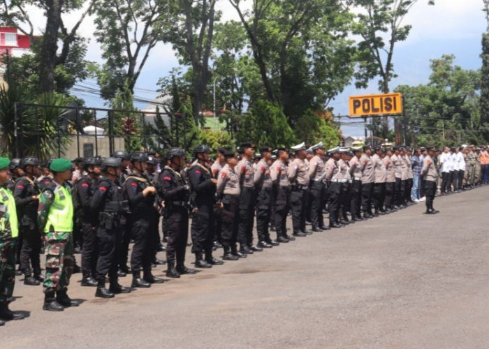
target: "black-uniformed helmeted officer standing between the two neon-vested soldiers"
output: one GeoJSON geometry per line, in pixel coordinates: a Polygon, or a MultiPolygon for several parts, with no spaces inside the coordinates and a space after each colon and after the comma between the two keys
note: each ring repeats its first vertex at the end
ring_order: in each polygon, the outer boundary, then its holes
{"type": "Polygon", "coordinates": [[[22,158],[20,168],[22,168],[24,176],[17,179],[13,191],[19,216],[20,235],[22,235],[20,269],[24,271],[24,285],[39,285],[44,281],[44,277],[41,275],[39,257],[41,253],[41,232],[39,232],[37,225],[39,189],[35,182],[36,177],[39,176],[39,161],[34,157],[22,158]],[[30,268],[31,265],[32,269],[30,268]],[[34,271],[34,277],[32,271],[34,271]]]}

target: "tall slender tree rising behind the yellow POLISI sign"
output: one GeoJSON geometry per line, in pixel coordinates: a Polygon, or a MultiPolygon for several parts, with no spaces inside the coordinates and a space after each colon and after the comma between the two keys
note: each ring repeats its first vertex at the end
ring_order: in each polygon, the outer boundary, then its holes
{"type": "MultiPolygon", "coordinates": [[[[409,36],[411,25],[403,24],[404,17],[418,1],[353,0],[357,11],[353,34],[360,36],[357,87],[367,87],[368,81],[378,76],[379,91],[383,94],[391,91],[390,82],[397,76],[393,65],[395,45],[409,36]]],[[[435,1],[428,0],[428,3],[433,5],[435,1]]],[[[397,119],[395,128],[399,130],[397,119]]],[[[388,135],[387,117],[382,120],[381,129],[377,127],[377,133],[383,138],[388,135]]],[[[400,139],[397,138],[396,143],[399,144],[400,139]]]]}

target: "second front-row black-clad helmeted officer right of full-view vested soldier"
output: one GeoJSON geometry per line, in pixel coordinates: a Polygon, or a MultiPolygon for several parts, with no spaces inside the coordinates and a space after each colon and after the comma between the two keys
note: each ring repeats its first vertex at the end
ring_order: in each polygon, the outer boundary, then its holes
{"type": "MultiPolygon", "coordinates": [[[[156,188],[150,185],[143,173],[147,166],[147,155],[143,151],[131,154],[133,172],[124,182],[124,199],[129,200],[131,209],[131,236],[134,239],[131,253],[132,286],[148,288],[152,283],[163,283],[151,273],[154,254],[152,231],[154,227],[154,198],[156,188]],[[140,272],[143,269],[143,279],[140,272]]],[[[125,247],[125,246],[124,246],[125,247]]],[[[120,265],[119,265],[120,267],[120,265]]]]}

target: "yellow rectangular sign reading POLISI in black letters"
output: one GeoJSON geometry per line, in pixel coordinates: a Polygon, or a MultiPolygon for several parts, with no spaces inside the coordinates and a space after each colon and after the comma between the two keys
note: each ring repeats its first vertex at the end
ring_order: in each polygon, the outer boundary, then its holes
{"type": "Polygon", "coordinates": [[[350,97],[350,117],[402,114],[402,94],[370,94],[350,97]]]}

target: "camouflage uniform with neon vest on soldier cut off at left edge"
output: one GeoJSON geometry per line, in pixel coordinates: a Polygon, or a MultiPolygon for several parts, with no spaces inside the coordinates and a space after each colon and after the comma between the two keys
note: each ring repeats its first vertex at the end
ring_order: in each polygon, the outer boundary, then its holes
{"type": "Polygon", "coordinates": [[[18,228],[17,211],[13,202],[12,193],[6,188],[0,188],[0,303],[7,302],[12,297],[15,285],[15,242],[18,228]],[[10,207],[9,200],[12,200],[10,207]],[[15,222],[11,222],[10,217],[15,217],[15,222]]]}

